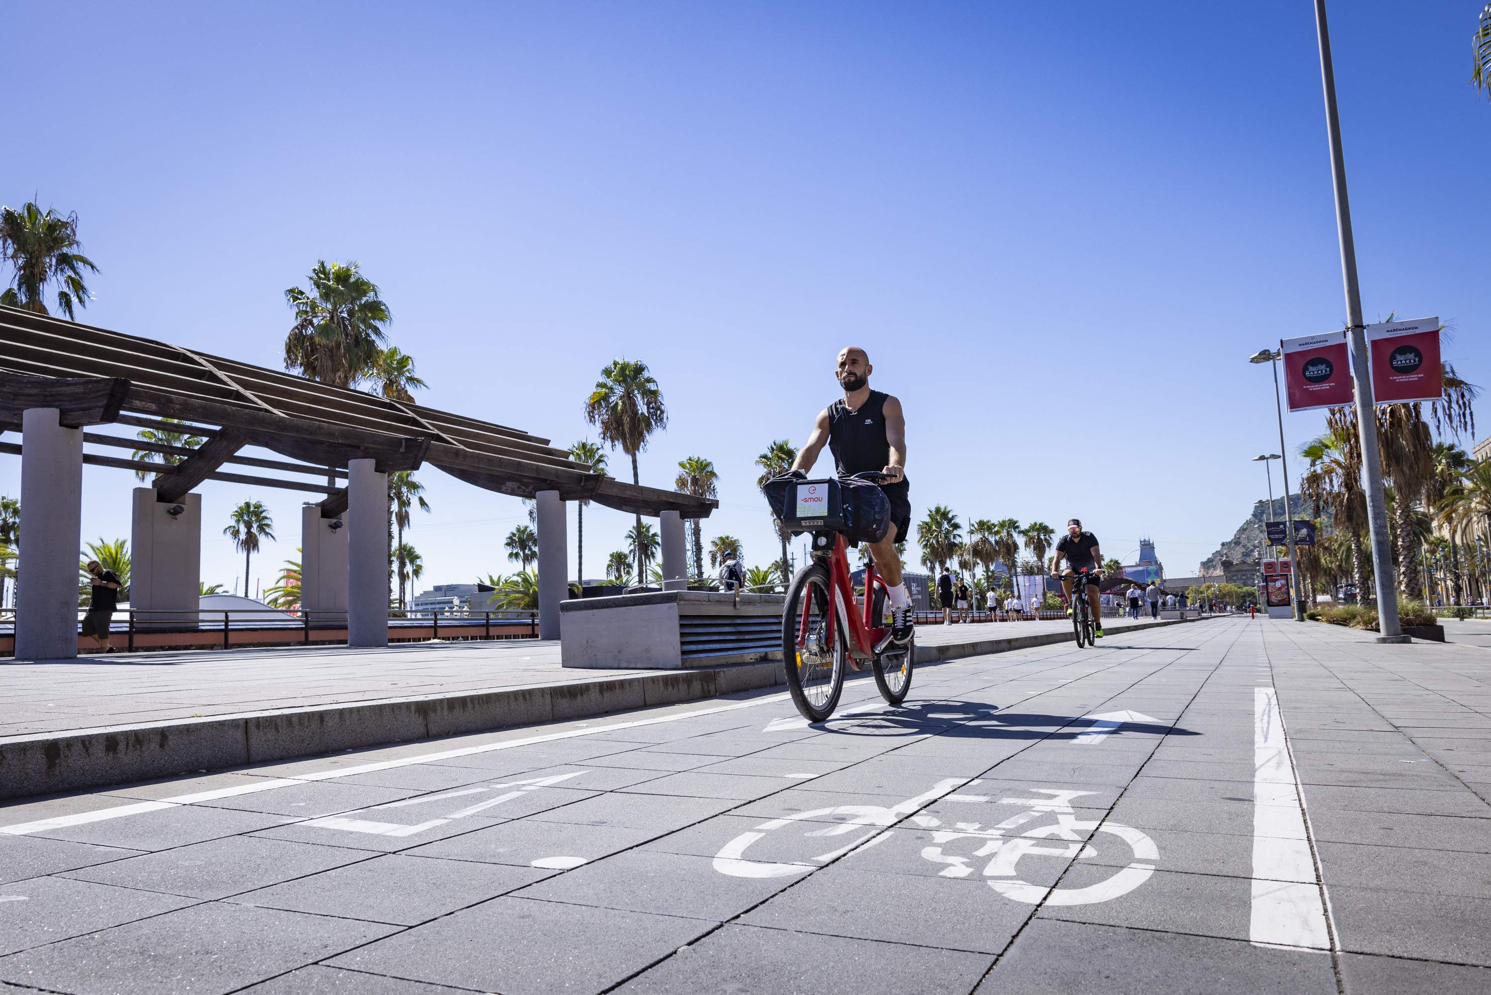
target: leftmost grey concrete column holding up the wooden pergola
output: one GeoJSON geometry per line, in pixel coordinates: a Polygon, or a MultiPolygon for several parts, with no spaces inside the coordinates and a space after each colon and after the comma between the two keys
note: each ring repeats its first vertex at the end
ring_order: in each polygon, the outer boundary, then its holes
{"type": "Polygon", "coordinates": [[[21,561],[16,659],[78,655],[78,549],[83,515],[83,434],[55,407],[21,415],[21,561]]]}

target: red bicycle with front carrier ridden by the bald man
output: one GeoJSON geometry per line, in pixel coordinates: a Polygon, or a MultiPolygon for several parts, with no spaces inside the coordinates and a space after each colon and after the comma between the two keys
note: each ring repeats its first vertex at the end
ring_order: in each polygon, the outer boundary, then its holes
{"type": "MultiPolygon", "coordinates": [[[[856,477],[878,483],[884,474],[860,473],[856,477]]],[[[802,480],[798,494],[807,495],[808,488],[822,488],[828,494],[830,483],[802,480]]],[[[796,507],[804,509],[808,501],[804,497],[796,507]]],[[[813,534],[813,561],[792,579],[781,616],[781,658],[798,712],[810,722],[828,719],[844,691],[845,670],[851,665],[860,670],[866,661],[874,667],[881,697],[890,704],[901,704],[911,689],[915,638],[905,643],[892,640],[889,592],[874,561],[865,565],[865,586],[856,595],[841,519],[829,510],[822,518],[784,521],[793,533],[813,534]]]]}

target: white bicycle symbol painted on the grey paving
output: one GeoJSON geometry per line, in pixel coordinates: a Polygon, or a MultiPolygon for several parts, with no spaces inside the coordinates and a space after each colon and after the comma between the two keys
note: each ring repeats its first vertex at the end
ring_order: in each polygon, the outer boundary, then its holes
{"type": "Polygon", "coordinates": [[[1044,798],[1000,798],[996,804],[1026,806],[1008,819],[983,828],[978,822],[956,822],[951,828],[944,828],[941,819],[921,814],[920,810],[933,801],[950,803],[989,803],[987,795],[954,794],[960,788],[972,788],[980,782],[966,779],[941,780],[927,792],[908,798],[896,806],[832,806],[799,812],[780,819],[769,819],[760,825],[741,832],[734,840],[720,847],[714,856],[714,870],[734,877],[786,877],[804,874],[814,867],[822,867],[839,856],[869,849],[884,843],[895,829],[889,828],[911,816],[911,822],[923,829],[932,829],[932,844],[921,849],[921,858],[933,864],[944,864],[941,877],[969,877],[975,873],[975,861],[987,862],[981,876],[990,879],[989,886],[996,892],[1018,903],[1050,905],[1087,905],[1093,903],[1111,901],[1120,895],[1127,895],[1144,885],[1154,873],[1159,850],[1154,840],[1132,826],[1115,822],[1094,822],[1078,819],[1072,810],[1072,801],[1088,791],[1065,791],[1041,788],[1033,791],[1044,798]],[[1044,817],[1056,817],[1054,823],[1027,826],[1044,817]],[[816,828],[804,832],[808,840],[828,840],[838,837],[853,837],[839,846],[830,846],[823,853],[807,856],[801,861],[762,861],[751,859],[747,852],[768,834],[808,822],[816,828]],[[1017,832],[1018,831],[1018,832],[1017,832]],[[1020,859],[1024,856],[1053,856],[1063,859],[1088,859],[1097,856],[1093,840],[1097,834],[1108,834],[1127,844],[1133,859],[1118,867],[1114,874],[1088,885],[1085,888],[1048,888],[1023,880],[1018,873],[1020,859]],[[968,841],[978,846],[966,850],[968,841]]]}

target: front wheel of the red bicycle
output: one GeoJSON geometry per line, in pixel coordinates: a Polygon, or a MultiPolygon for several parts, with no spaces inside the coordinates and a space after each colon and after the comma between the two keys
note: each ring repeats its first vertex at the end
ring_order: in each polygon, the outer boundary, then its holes
{"type": "Polygon", "coordinates": [[[804,567],[792,579],[781,615],[781,661],[792,703],[808,722],[833,715],[844,691],[848,633],[839,607],[823,565],[804,567]]]}

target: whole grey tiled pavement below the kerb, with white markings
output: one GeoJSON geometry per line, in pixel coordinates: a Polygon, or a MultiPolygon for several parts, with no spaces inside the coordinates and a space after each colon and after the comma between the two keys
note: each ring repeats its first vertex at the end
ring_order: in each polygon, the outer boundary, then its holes
{"type": "Polygon", "coordinates": [[[0,992],[1487,992],[1488,677],[1224,619],[12,804],[0,992]]]}

